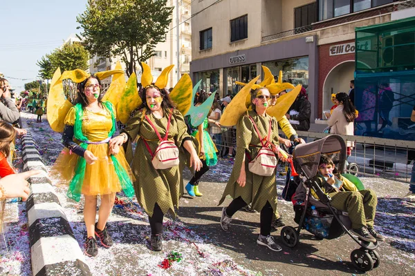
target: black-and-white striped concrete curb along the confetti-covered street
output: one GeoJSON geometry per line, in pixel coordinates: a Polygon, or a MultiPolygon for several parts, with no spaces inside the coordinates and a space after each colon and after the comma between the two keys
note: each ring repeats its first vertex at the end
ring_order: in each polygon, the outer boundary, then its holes
{"type": "Polygon", "coordinates": [[[28,180],[26,211],[33,275],[91,275],[29,132],[21,144],[24,170],[44,171],[28,180]]]}

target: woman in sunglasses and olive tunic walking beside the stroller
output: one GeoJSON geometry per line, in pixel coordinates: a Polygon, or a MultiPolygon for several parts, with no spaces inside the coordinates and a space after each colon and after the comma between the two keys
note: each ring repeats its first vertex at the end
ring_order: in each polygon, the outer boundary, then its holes
{"type": "Polygon", "coordinates": [[[227,195],[233,198],[228,207],[223,207],[221,227],[225,231],[230,230],[232,215],[239,209],[252,203],[252,208],[261,213],[261,233],[257,239],[257,244],[268,246],[271,250],[281,251],[281,246],[275,244],[273,237],[270,235],[273,213],[277,210],[275,170],[270,176],[261,176],[250,172],[248,169],[250,160],[247,159],[255,159],[262,146],[261,138],[257,135],[251,119],[255,122],[261,137],[267,137],[269,127],[271,126],[267,146],[273,152],[278,152],[279,159],[282,159],[282,161],[286,161],[286,159],[278,151],[277,120],[266,114],[270,101],[270,92],[267,88],[250,90],[250,99],[252,110],[249,110],[248,114],[241,116],[237,124],[237,155],[232,174],[219,202],[219,205],[222,204],[227,195]]]}

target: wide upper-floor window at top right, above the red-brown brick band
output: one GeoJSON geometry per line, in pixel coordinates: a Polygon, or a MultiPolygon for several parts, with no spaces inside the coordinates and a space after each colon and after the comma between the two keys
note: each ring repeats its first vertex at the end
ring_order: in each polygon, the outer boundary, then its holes
{"type": "Polygon", "coordinates": [[[348,12],[346,13],[340,13],[338,15],[335,15],[335,2],[336,1],[342,1],[342,0],[317,0],[316,3],[316,17],[317,17],[317,22],[319,21],[325,21],[325,20],[329,20],[329,19],[333,19],[335,17],[341,17],[344,15],[348,15],[348,14],[352,14],[354,12],[360,12],[362,10],[369,10],[371,8],[376,8],[379,6],[383,6],[383,5],[387,5],[390,3],[394,3],[397,0],[369,0],[370,1],[370,6],[367,8],[355,8],[355,0],[349,0],[349,9],[348,12]],[[328,9],[324,9],[321,10],[322,7],[322,2],[325,3],[324,6],[329,7],[328,9]],[[376,4],[377,2],[377,4],[376,4]]]}

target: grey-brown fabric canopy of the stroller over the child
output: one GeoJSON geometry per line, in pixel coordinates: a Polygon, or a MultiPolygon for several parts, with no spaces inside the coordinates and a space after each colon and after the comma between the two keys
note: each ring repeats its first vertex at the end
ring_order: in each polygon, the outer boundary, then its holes
{"type": "Polygon", "coordinates": [[[338,172],[342,173],[346,162],[346,144],[339,135],[328,135],[308,144],[299,144],[293,152],[293,160],[297,163],[299,173],[311,178],[317,175],[320,155],[325,153],[333,159],[338,172]]]}

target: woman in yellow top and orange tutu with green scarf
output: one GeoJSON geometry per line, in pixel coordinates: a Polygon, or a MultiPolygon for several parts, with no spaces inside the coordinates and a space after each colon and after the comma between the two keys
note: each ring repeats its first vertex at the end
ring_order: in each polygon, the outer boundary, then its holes
{"type": "MultiPolygon", "coordinates": [[[[124,151],[118,146],[109,147],[109,140],[116,131],[116,109],[110,101],[102,101],[102,97],[98,77],[91,75],[78,83],[77,103],[64,119],[62,141],[68,150],[63,151],[55,164],[55,169],[66,179],[73,176],[68,197],[75,201],[80,201],[81,195],[85,197],[87,238],[84,252],[90,257],[98,254],[95,236],[100,238],[102,246],[113,245],[107,221],[116,193],[123,190],[128,197],[133,196],[131,169],[124,151]],[[98,195],[101,205],[95,223],[98,195]]],[[[53,126],[53,121],[50,124],[53,126]]]]}

